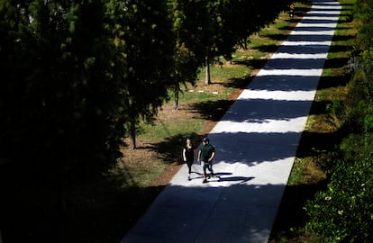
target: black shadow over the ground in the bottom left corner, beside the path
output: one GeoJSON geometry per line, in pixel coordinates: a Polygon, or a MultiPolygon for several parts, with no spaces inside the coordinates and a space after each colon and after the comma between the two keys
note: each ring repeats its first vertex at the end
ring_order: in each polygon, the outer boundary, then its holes
{"type": "MultiPolygon", "coordinates": [[[[27,162],[37,165],[37,161],[27,162]]],[[[0,230],[6,243],[119,242],[164,188],[123,190],[96,178],[89,184],[65,188],[67,211],[61,214],[51,171],[19,165],[0,169],[0,230]]]]}

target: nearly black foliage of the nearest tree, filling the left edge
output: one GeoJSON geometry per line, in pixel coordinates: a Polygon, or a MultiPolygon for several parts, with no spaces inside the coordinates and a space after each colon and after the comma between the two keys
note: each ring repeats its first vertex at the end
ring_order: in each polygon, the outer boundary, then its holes
{"type": "Polygon", "coordinates": [[[0,98],[1,147],[8,157],[24,155],[43,168],[70,171],[120,155],[118,84],[107,75],[113,53],[104,38],[102,7],[100,1],[31,1],[5,14],[16,23],[1,30],[2,47],[9,47],[1,55],[0,98]],[[19,148],[23,154],[15,153],[19,148]]]}

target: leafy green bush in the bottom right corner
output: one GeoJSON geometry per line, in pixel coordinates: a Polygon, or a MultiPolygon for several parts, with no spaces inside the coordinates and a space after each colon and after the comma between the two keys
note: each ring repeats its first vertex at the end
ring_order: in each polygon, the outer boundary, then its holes
{"type": "Polygon", "coordinates": [[[308,230],[323,242],[371,242],[373,227],[372,157],[340,162],[327,191],[308,202],[308,230]]]}

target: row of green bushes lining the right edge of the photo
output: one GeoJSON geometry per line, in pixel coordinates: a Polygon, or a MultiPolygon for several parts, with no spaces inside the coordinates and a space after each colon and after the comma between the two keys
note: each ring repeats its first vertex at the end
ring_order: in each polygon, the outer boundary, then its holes
{"type": "Polygon", "coordinates": [[[305,209],[306,229],[323,242],[372,242],[373,235],[373,1],[358,0],[359,23],[350,94],[338,113],[342,140],[333,158],[331,182],[305,209]]]}

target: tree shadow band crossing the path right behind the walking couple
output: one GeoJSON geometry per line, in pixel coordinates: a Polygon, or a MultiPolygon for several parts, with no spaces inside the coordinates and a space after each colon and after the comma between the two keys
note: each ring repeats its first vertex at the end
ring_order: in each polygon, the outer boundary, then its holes
{"type": "MultiPolygon", "coordinates": [[[[255,125],[252,126],[255,127],[255,125]]],[[[321,150],[328,149],[332,141],[338,141],[338,138],[341,137],[339,133],[319,134],[303,133],[302,131],[221,132],[209,134],[211,143],[216,150],[214,164],[220,162],[228,164],[239,162],[247,166],[255,166],[263,161],[278,161],[286,159],[287,157],[293,157],[296,154],[298,143],[302,136],[305,140],[311,140],[313,143],[304,146],[304,148],[307,148],[305,151],[298,151],[299,157],[313,155],[312,153],[314,153],[314,150],[309,148],[318,148],[321,150]]],[[[182,148],[174,143],[174,140],[178,137],[179,136],[167,139],[168,144],[164,141],[154,145],[154,149],[159,152],[161,159],[165,161],[175,161],[175,155],[180,154],[182,148]],[[162,147],[174,147],[174,150],[166,150],[162,147]]],[[[196,135],[196,137],[198,136],[196,135]]],[[[196,175],[198,175],[198,173],[196,173],[196,175]]],[[[216,175],[219,175],[222,180],[228,180],[224,178],[223,174],[216,175]]],[[[230,178],[230,176],[228,176],[228,178],[230,178]]]]}

